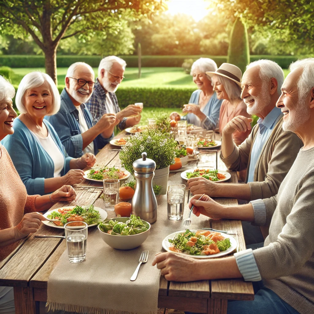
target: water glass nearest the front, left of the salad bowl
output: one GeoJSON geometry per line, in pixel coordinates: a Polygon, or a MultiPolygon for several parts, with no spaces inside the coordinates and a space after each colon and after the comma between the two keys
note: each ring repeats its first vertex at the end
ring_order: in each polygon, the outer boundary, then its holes
{"type": "Polygon", "coordinates": [[[86,257],[87,223],[70,221],[64,225],[64,231],[70,262],[83,262],[86,257]]]}

